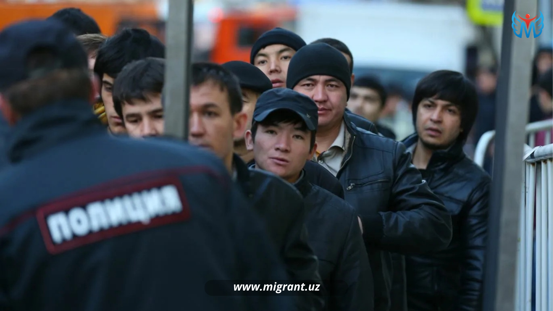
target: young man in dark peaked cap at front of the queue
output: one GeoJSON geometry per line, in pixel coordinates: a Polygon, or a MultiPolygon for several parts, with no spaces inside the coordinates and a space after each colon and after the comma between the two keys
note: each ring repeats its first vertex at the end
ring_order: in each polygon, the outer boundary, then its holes
{"type": "Polygon", "coordinates": [[[290,89],[264,92],[246,132],[248,147],[255,167],[279,175],[304,196],[309,243],[328,292],[325,310],[373,310],[373,280],[357,212],[305,175],[305,161],[317,148],[317,119],[317,105],[309,97],[290,89]]]}

